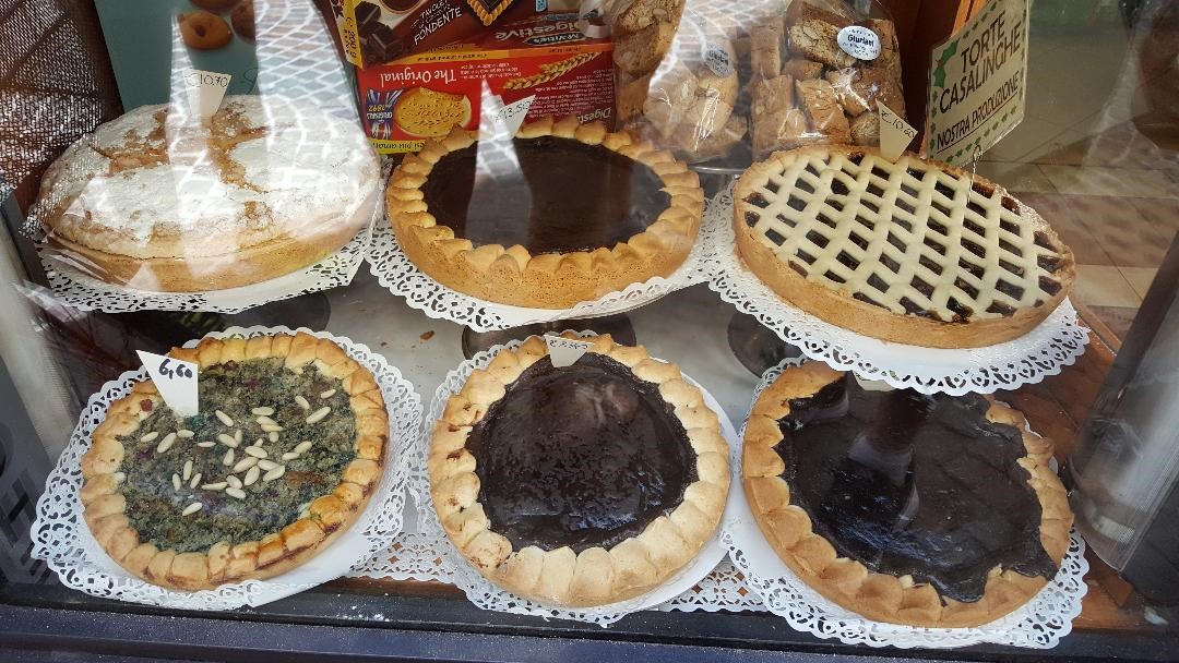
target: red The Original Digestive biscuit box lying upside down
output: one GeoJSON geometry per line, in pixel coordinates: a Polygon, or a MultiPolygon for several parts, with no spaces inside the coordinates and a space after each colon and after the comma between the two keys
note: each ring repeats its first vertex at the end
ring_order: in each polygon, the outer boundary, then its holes
{"type": "Polygon", "coordinates": [[[569,14],[508,22],[477,38],[356,71],[361,118],[377,152],[421,150],[453,127],[477,130],[482,84],[509,105],[535,95],[525,121],[578,115],[613,125],[610,39],[569,14]]]}

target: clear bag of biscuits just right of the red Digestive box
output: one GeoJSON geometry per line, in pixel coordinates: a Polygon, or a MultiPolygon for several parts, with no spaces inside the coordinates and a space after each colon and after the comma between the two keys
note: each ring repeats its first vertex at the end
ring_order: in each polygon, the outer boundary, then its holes
{"type": "Polygon", "coordinates": [[[731,34],[737,24],[722,7],[703,0],[620,0],[614,9],[620,126],[689,161],[726,154],[739,144],[747,120],[733,112],[739,81],[731,34]],[[668,20],[648,24],[635,39],[635,15],[668,20]]]}

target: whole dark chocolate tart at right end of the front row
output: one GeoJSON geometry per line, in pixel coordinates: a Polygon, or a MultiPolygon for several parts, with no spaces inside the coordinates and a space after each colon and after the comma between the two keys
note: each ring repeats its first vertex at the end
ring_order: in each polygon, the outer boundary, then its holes
{"type": "Polygon", "coordinates": [[[1052,444],[977,395],[865,391],[786,369],[745,429],[750,509],[782,561],[870,619],[962,628],[1030,601],[1068,550],[1052,444]]]}

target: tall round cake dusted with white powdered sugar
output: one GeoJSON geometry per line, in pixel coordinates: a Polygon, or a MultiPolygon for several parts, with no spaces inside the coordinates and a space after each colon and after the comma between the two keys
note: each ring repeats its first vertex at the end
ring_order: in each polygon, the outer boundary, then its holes
{"type": "Polygon", "coordinates": [[[312,104],[226,97],[208,124],[143,106],[71,145],[41,183],[50,244],[140,290],[222,290],[347,244],[380,186],[363,132],[312,104]]]}

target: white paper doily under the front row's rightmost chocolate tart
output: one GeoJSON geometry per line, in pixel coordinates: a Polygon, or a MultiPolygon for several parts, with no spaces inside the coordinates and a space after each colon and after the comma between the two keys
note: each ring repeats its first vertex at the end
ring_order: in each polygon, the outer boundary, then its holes
{"type": "MultiPolygon", "coordinates": [[[[751,403],[783,370],[797,365],[791,358],[770,369],[762,377],[751,403]]],[[[742,426],[742,438],[745,430],[742,426]]],[[[739,486],[740,484],[738,484],[739,486]]],[[[1008,644],[1034,649],[1055,647],[1073,629],[1073,618],[1081,614],[1081,599],[1088,591],[1084,576],[1089,570],[1085,561],[1085,542],[1076,532],[1069,537],[1068,552],[1056,576],[1032,601],[1010,615],[989,624],[969,629],[930,629],[874,622],[828,601],[801,581],[782,562],[757,525],[745,500],[745,491],[730,497],[732,518],[725,522],[722,541],[729,557],[740,570],[749,586],[765,606],[784,617],[799,631],[821,638],[837,638],[845,644],[898,648],[955,648],[979,643],[1008,644]]]]}

